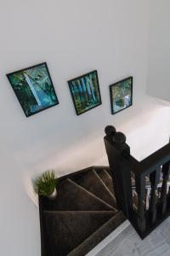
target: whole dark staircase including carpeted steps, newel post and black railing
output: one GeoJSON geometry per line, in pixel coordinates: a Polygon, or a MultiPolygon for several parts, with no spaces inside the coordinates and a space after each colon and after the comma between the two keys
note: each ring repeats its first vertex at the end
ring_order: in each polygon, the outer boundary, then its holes
{"type": "Polygon", "coordinates": [[[60,177],[54,200],[39,196],[42,256],[94,255],[126,219],[144,239],[170,216],[170,143],[139,162],[122,132],[105,134],[110,168],[60,177]]]}

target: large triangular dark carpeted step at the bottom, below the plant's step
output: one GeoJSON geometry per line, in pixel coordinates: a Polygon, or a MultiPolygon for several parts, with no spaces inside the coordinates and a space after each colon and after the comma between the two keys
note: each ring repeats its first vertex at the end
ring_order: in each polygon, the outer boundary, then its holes
{"type": "Polygon", "coordinates": [[[50,256],[67,255],[113,218],[114,214],[108,211],[44,211],[50,256]]]}

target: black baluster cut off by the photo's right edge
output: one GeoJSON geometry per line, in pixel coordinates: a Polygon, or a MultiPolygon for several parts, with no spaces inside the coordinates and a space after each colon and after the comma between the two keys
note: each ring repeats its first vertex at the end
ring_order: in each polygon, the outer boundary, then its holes
{"type": "Polygon", "coordinates": [[[161,214],[164,214],[167,209],[167,180],[170,174],[169,162],[162,166],[163,182],[161,185],[161,214]]]}

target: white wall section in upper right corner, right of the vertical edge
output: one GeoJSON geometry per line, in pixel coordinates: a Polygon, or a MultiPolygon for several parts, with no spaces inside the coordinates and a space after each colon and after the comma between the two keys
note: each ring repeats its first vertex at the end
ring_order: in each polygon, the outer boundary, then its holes
{"type": "Polygon", "coordinates": [[[148,93],[170,101],[170,33],[168,0],[150,0],[150,61],[148,93]]]}

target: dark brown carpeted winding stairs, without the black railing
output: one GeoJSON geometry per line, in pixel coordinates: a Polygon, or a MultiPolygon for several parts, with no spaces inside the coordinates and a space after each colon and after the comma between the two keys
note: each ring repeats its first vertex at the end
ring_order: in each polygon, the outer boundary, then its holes
{"type": "Polygon", "coordinates": [[[59,178],[55,200],[39,197],[42,256],[84,256],[125,221],[108,167],[59,178]]]}

